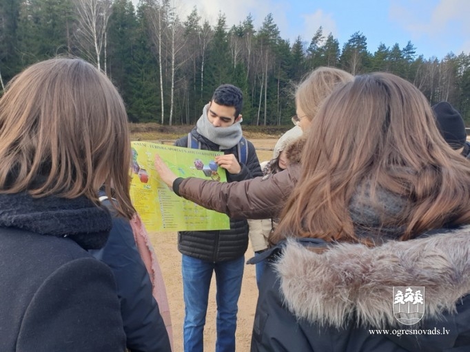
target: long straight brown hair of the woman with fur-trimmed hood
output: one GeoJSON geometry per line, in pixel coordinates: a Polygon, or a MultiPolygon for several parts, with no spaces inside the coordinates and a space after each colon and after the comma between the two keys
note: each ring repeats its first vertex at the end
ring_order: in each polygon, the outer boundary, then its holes
{"type": "Polygon", "coordinates": [[[312,121],[305,150],[274,243],[294,236],[370,245],[354,233],[348,208],[365,180],[409,203],[394,219],[401,240],[470,222],[470,163],[440,136],[425,96],[398,76],[365,74],[338,87],[312,121]]]}

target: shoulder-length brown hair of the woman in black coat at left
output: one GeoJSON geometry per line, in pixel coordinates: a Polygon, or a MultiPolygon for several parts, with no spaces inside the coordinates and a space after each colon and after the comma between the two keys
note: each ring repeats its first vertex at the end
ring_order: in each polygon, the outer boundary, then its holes
{"type": "Polygon", "coordinates": [[[81,59],[50,59],[10,81],[0,99],[0,193],[86,196],[105,186],[131,218],[130,136],[111,81],[81,59]]]}

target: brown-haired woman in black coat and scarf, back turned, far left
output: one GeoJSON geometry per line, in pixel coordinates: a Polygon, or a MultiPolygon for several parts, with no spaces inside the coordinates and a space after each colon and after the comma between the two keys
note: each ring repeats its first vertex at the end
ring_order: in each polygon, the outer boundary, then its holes
{"type": "Polygon", "coordinates": [[[132,218],[130,135],[111,81],[81,59],[36,63],[0,99],[0,351],[125,350],[111,269],[88,249],[132,218]]]}

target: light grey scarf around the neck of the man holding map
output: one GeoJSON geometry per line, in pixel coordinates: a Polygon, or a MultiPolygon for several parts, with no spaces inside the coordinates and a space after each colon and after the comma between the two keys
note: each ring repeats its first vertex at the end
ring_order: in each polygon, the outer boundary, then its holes
{"type": "Polygon", "coordinates": [[[214,127],[207,117],[208,109],[209,104],[205,105],[203,114],[196,123],[196,131],[198,134],[216,143],[220,150],[230,149],[237,145],[243,135],[240,125],[242,119],[228,127],[214,127]]]}

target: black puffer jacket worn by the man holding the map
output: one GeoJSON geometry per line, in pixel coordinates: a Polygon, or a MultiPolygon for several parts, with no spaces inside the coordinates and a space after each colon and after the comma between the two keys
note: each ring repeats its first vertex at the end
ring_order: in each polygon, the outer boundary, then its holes
{"type": "MultiPolygon", "coordinates": [[[[196,127],[191,133],[201,142],[201,149],[219,150],[218,145],[198,134],[196,127]]],[[[241,164],[241,172],[236,175],[227,172],[227,182],[229,183],[262,175],[254,145],[249,141],[247,143],[247,164],[241,164]]],[[[187,136],[178,139],[174,145],[187,147],[187,136]]],[[[232,149],[225,149],[223,152],[225,154],[234,154],[238,160],[236,146],[232,147],[232,149]]],[[[211,262],[240,258],[245,254],[248,247],[248,230],[246,220],[230,218],[229,230],[181,231],[178,232],[178,250],[187,256],[211,262]]]]}

